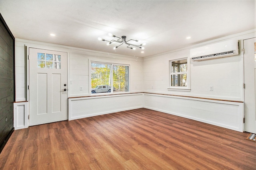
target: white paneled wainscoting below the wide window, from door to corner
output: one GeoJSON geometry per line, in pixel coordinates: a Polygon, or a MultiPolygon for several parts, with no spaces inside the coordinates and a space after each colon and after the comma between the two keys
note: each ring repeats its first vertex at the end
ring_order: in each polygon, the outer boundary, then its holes
{"type": "Polygon", "coordinates": [[[68,98],[68,120],[143,107],[143,93],[68,98]]]}

